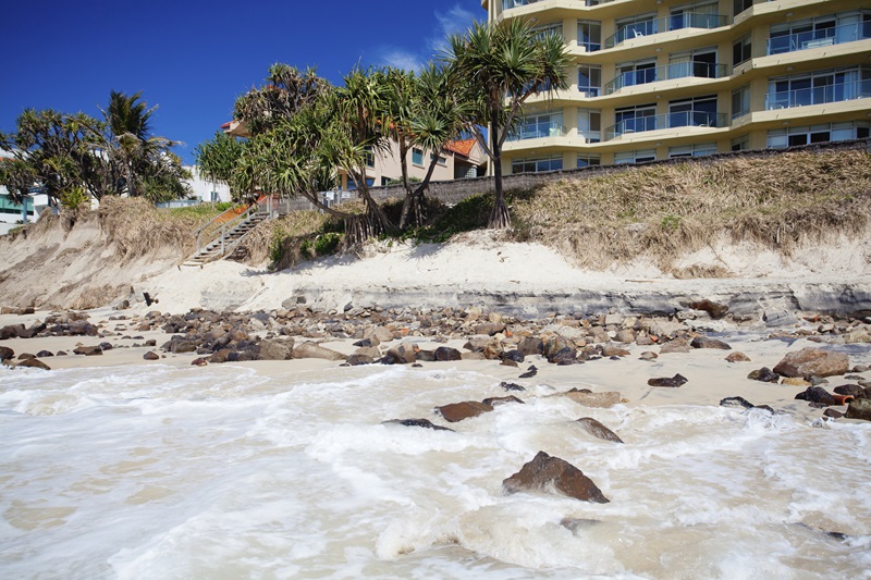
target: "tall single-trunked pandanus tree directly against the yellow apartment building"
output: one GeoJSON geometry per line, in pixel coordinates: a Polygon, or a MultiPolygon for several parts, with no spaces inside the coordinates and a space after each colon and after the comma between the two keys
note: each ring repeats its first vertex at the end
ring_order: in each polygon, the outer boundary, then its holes
{"type": "Polygon", "coordinates": [[[530,97],[566,88],[567,49],[559,35],[537,36],[528,23],[512,18],[475,23],[465,34],[450,36],[444,60],[454,71],[457,92],[469,106],[466,128],[493,163],[495,200],[488,226],[510,227],[502,188],[502,147],[530,97]]]}

